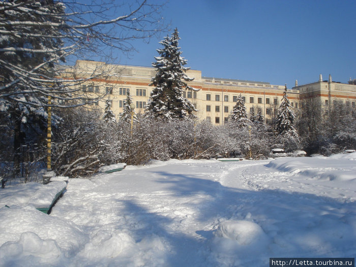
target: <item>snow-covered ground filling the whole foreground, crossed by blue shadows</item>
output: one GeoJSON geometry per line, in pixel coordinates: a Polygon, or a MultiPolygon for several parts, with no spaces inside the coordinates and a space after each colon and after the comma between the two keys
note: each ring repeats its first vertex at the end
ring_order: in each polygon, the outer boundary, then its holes
{"type": "MultiPolygon", "coordinates": [[[[0,197],[6,190],[0,190],[0,197]]],[[[50,215],[1,207],[4,266],[268,266],[356,255],[356,153],[170,160],[70,180],[50,215]]]]}

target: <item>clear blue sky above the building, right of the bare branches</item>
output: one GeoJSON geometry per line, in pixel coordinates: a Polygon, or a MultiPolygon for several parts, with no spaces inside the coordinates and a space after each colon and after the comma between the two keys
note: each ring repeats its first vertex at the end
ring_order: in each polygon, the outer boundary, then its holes
{"type": "MultiPolygon", "coordinates": [[[[171,0],[163,16],[182,56],[203,76],[294,86],[356,78],[356,1],[171,0]]],[[[151,66],[160,40],[135,42],[119,64],[151,66]]]]}

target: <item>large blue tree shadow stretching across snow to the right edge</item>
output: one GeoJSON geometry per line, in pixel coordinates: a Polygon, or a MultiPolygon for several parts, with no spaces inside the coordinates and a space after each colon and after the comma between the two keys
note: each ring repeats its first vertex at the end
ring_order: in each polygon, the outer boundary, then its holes
{"type": "Polygon", "coordinates": [[[193,175],[155,172],[177,198],[196,195],[195,218],[212,230],[196,231],[205,239],[223,220],[252,221],[269,236],[271,257],[343,256],[356,252],[356,203],[327,196],[265,189],[250,191],[222,186],[193,175]]]}

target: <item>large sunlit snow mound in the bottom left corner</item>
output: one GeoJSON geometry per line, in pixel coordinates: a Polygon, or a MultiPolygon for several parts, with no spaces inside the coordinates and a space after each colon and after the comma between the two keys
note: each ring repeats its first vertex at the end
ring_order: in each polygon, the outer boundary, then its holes
{"type": "Polygon", "coordinates": [[[73,256],[88,241],[87,234],[74,223],[48,216],[31,206],[2,207],[0,218],[0,259],[8,257],[11,248],[14,248],[14,253],[22,256],[31,254],[43,258],[42,253],[45,253],[56,259],[58,248],[66,257],[73,256]],[[25,249],[22,248],[24,244],[25,249]],[[28,248],[28,244],[33,244],[33,249],[28,248]],[[34,249],[36,246],[46,249],[41,250],[44,252],[37,251],[34,249]]]}

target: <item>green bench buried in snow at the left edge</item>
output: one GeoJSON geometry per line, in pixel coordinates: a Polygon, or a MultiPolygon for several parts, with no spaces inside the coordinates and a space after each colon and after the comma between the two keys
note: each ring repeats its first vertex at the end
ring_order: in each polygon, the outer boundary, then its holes
{"type": "Polygon", "coordinates": [[[39,183],[27,183],[8,186],[0,190],[0,206],[23,207],[34,206],[37,210],[48,214],[55,201],[63,194],[67,187],[65,177],[57,177],[57,180],[47,185],[39,183]]]}

